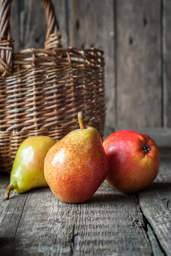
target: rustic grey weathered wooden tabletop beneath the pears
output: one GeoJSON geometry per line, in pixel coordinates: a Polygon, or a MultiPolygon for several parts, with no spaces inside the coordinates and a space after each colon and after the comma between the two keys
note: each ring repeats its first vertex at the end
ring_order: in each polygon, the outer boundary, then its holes
{"type": "Polygon", "coordinates": [[[1,173],[0,255],[171,256],[170,159],[143,191],[103,183],[84,204],[65,204],[49,188],[11,192],[5,201],[9,175],[1,173]]]}

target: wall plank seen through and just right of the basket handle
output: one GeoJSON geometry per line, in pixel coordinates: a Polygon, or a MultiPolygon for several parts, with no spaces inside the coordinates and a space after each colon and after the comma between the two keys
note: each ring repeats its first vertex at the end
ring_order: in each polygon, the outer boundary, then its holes
{"type": "MultiPolygon", "coordinates": [[[[44,48],[46,15],[41,0],[14,0],[12,3],[11,26],[15,39],[15,51],[27,48],[44,48]],[[18,10],[20,12],[18,12],[18,10]]],[[[62,35],[63,47],[68,46],[66,1],[52,0],[62,35]]]]}

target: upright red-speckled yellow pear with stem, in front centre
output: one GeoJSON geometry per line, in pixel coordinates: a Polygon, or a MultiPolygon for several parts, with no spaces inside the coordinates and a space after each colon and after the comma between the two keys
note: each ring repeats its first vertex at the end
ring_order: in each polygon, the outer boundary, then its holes
{"type": "Polygon", "coordinates": [[[66,203],[82,203],[93,196],[109,170],[98,131],[85,126],[71,131],[49,149],[44,162],[45,179],[53,194],[66,203]]]}

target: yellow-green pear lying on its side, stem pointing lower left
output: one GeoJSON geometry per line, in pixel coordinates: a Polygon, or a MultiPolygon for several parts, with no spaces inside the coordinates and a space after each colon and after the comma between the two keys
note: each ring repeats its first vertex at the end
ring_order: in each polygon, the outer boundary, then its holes
{"type": "Polygon", "coordinates": [[[48,136],[33,136],[20,144],[12,166],[6,200],[11,190],[24,193],[32,188],[48,186],[44,177],[44,160],[55,143],[48,136]]]}

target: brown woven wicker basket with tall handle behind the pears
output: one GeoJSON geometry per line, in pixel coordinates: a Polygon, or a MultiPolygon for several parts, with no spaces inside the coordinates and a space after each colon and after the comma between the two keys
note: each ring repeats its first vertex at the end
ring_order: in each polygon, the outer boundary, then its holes
{"type": "Polygon", "coordinates": [[[78,111],[104,132],[104,58],[98,49],[63,49],[50,0],[45,49],[13,53],[11,0],[0,1],[0,171],[10,172],[17,148],[29,136],[61,140],[77,129],[78,111]]]}

